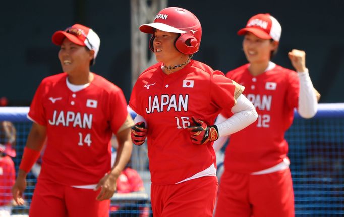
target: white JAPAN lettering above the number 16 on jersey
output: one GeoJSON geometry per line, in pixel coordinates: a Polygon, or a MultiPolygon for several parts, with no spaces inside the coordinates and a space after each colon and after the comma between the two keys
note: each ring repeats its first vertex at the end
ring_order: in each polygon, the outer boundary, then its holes
{"type": "Polygon", "coordinates": [[[163,112],[174,110],[176,112],[188,111],[189,95],[155,95],[148,97],[148,107],[146,107],[146,113],[163,112]]]}

